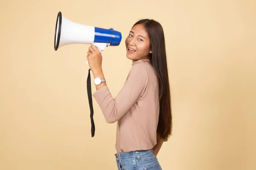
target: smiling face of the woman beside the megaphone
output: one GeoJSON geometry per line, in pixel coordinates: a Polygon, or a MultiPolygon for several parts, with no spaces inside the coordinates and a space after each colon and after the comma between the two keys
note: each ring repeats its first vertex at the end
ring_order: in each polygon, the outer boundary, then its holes
{"type": "Polygon", "coordinates": [[[125,45],[126,57],[133,62],[145,59],[149,53],[152,53],[148,33],[141,24],[137,24],[131,29],[128,37],[125,39],[125,45]]]}

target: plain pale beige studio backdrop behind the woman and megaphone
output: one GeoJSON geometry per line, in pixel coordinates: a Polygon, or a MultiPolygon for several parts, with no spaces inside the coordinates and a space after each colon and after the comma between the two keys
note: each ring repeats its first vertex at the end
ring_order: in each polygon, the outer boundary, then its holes
{"type": "Polygon", "coordinates": [[[122,32],[120,46],[102,52],[113,96],[131,68],[124,44],[131,26],[141,18],[162,24],[174,126],[157,156],[163,170],[256,169],[255,0],[6,0],[0,6],[1,170],[116,169],[116,123],[105,122],[94,99],[96,135],[90,136],[89,45],[54,51],[58,11],[122,32]]]}

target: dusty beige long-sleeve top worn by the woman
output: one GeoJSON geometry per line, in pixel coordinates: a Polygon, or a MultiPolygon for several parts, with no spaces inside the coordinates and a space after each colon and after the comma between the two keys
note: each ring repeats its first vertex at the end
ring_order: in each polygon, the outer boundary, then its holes
{"type": "Polygon", "coordinates": [[[157,144],[159,96],[157,77],[148,59],[132,63],[126,82],[115,98],[108,86],[93,97],[108,123],[117,121],[116,151],[148,150],[157,144]]]}

